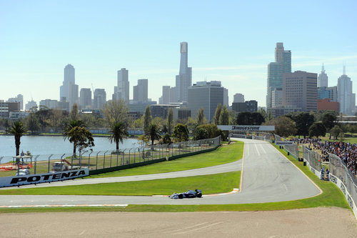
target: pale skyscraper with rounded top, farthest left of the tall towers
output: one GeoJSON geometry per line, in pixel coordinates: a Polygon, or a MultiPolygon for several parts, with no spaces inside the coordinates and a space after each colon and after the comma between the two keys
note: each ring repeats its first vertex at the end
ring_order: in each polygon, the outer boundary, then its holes
{"type": "Polygon", "coordinates": [[[74,75],[74,66],[67,64],[64,67],[64,81],[59,89],[59,98],[66,98],[66,101],[69,101],[70,108],[73,104],[78,104],[78,85],[75,84],[74,75]]]}

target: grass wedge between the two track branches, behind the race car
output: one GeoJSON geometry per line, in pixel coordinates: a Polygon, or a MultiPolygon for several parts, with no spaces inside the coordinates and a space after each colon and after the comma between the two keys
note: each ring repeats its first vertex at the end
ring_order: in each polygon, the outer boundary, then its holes
{"type": "Polygon", "coordinates": [[[174,179],[155,179],[136,182],[117,182],[106,184],[86,184],[64,187],[39,187],[31,189],[0,190],[0,194],[11,195],[169,195],[186,192],[188,189],[201,189],[203,194],[231,192],[238,188],[241,172],[228,172],[174,179]]]}

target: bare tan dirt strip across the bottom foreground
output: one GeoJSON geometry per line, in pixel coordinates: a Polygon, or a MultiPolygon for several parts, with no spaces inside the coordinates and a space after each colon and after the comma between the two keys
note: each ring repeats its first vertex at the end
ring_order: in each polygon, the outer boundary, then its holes
{"type": "Polygon", "coordinates": [[[1,237],[356,237],[351,210],[0,214],[1,237]]]}

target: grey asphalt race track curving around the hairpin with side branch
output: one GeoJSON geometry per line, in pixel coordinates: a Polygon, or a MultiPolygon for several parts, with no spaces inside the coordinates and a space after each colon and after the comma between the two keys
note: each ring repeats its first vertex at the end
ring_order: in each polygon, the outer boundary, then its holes
{"type": "MultiPolygon", "coordinates": [[[[238,162],[184,172],[148,174],[130,177],[76,179],[47,186],[79,185],[102,182],[126,182],[203,174],[232,172],[242,169],[241,191],[201,199],[169,199],[145,196],[78,196],[78,195],[1,195],[1,206],[81,205],[81,204],[247,204],[282,202],[313,197],[321,190],[268,142],[237,139],[244,142],[244,156],[238,162]],[[71,184],[73,183],[73,184],[71,184]]],[[[34,187],[34,185],[31,185],[34,187]]],[[[46,186],[46,185],[44,185],[46,186]]],[[[37,187],[40,187],[37,185],[37,187]]],[[[196,188],[192,188],[196,189],[196,188]]],[[[182,191],[183,192],[183,191],[182,191]]],[[[204,194],[204,191],[203,191],[204,194]]]]}

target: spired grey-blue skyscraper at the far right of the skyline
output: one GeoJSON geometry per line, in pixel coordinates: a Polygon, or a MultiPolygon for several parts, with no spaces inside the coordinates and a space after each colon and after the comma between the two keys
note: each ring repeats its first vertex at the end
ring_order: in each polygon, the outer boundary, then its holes
{"type": "Polygon", "coordinates": [[[352,115],[356,104],[356,94],[352,92],[351,78],[346,75],[346,68],[343,66],[343,74],[337,82],[338,102],[340,103],[340,112],[352,115]]]}

